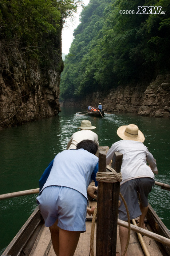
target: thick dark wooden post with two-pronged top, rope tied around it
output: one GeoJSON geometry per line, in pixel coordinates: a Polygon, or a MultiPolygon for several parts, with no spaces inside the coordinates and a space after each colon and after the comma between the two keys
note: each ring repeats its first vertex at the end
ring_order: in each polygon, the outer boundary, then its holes
{"type": "MultiPolygon", "coordinates": [[[[120,172],[121,153],[114,153],[112,167],[120,172]]],[[[99,172],[106,172],[106,152],[99,152],[99,172]]],[[[117,240],[117,220],[119,182],[98,182],[98,208],[96,228],[96,256],[115,256],[117,240]]]]}

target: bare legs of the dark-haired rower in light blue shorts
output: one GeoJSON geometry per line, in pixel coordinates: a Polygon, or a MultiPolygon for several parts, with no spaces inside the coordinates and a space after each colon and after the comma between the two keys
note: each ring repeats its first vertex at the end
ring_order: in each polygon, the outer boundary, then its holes
{"type": "Polygon", "coordinates": [[[50,227],[52,246],[57,256],[73,256],[76,250],[80,232],[60,229],[58,220],[50,227]]]}

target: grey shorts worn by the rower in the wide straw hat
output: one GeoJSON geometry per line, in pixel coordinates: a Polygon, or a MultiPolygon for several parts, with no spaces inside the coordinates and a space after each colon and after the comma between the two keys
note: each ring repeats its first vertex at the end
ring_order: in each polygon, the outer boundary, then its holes
{"type": "MultiPolygon", "coordinates": [[[[155,181],[153,178],[146,177],[146,178],[135,178],[133,180],[126,181],[120,186],[120,193],[122,194],[122,196],[126,201],[129,214],[130,214],[130,219],[135,219],[142,214],[139,207],[138,192],[140,194],[142,206],[147,207],[148,206],[147,197],[154,183],[155,181]]],[[[124,203],[122,202],[122,199],[119,198],[119,200],[120,200],[120,206],[118,208],[119,219],[121,219],[122,221],[127,221],[126,208],[124,206],[124,203]]]]}

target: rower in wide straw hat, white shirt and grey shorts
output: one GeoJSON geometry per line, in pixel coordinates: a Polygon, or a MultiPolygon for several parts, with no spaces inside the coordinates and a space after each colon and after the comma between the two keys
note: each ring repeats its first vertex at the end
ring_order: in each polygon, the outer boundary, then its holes
{"type": "MultiPolygon", "coordinates": [[[[149,153],[143,142],[145,137],[135,124],[120,126],[117,130],[122,139],[112,144],[106,155],[106,164],[110,163],[114,152],[123,154],[121,166],[122,181],[120,192],[122,193],[129,209],[130,219],[139,217],[138,226],[144,228],[144,219],[148,210],[148,195],[154,185],[154,173],[158,174],[156,160],[149,153]],[[147,162],[150,166],[147,165],[147,162]],[[140,205],[138,203],[138,192],[140,205]]],[[[120,199],[119,219],[127,221],[126,208],[120,199]]],[[[120,245],[122,253],[126,247],[128,229],[119,226],[120,245]]],[[[127,256],[127,252],[125,254],[127,256]]]]}

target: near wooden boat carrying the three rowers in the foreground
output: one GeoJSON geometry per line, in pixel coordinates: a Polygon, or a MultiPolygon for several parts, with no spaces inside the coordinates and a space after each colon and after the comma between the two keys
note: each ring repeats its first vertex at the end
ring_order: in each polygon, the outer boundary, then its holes
{"type": "MultiPolygon", "coordinates": [[[[107,147],[102,147],[102,150],[106,150],[107,147]]],[[[120,154],[120,153],[119,153],[120,154]]],[[[100,154],[99,154],[99,162],[101,165],[100,160],[100,154]]],[[[103,164],[106,169],[106,165],[103,164]]],[[[102,182],[100,182],[102,183],[102,182]]],[[[103,182],[104,183],[104,182],[103,182]]],[[[118,183],[118,182],[116,182],[118,183]]],[[[115,194],[114,194],[115,195],[115,194]]],[[[98,195],[99,196],[99,195],[98,195]]],[[[98,200],[98,204],[99,204],[98,200]]],[[[108,203],[108,202],[104,202],[108,203]]],[[[90,207],[94,206],[96,202],[94,200],[89,202],[90,207]]],[[[99,205],[98,205],[99,208],[99,205]]],[[[108,209],[107,209],[108,211],[108,209]]],[[[100,211],[101,214],[101,211],[100,211]]],[[[102,211],[103,214],[103,211],[102,211]]],[[[100,225],[100,222],[102,222],[101,218],[97,219],[97,225],[100,225]]],[[[98,228],[96,231],[96,223],[95,219],[92,221],[92,217],[90,217],[88,214],[86,216],[86,232],[80,234],[80,239],[78,242],[78,246],[76,248],[74,256],[89,256],[90,253],[90,244],[91,244],[91,223],[94,222],[94,255],[96,256],[105,256],[105,255],[113,255],[113,254],[101,254],[98,253],[95,248],[96,244],[96,237],[98,239],[98,228]],[[96,235],[97,234],[97,235],[96,235]]],[[[102,219],[104,220],[103,223],[106,224],[106,215],[102,215],[102,219]]],[[[122,225],[123,221],[120,221],[118,219],[118,224],[122,225]]],[[[123,222],[124,225],[127,225],[127,222],[123,222]]],[[[137,233],[135,233],[136,230],[142,230],[144,235],[143,240],[145,242],[145,246],[147,248],[147,251],[149,252],[150,256],[170,256],[170,232],[166,228],[166,226],[163,224],[161,219],[158,217],[158,215],[155,213],[153,208],[149,205],[149,210],[147,212],[146,220],[146,229],[141,229],[138,227],[135,227],[131,224],[131,230],[130,230],[130,242],[127,249],[128,255],[137,255],[137,256],[143,256],[145,255],[143,252],[143,246],[140,245],[137,233]],[[136,230],[135,230],[136,229],[136,230]],[[135,231],[133,231],[135,230],[135,231]],[[154,232],[151,233],[150,231],[154,232]],[[160,237],[161,236],[161,237],[160,237]]],[[[123,226],[123,225],[122,225],[123,226]]],[[[116,251],[121,253],[120,249],[120,240],[118,235],[118,227],[116,227],[117,233],[114,236],[116,238],[116,251]]],[[[104,230],[105,231],[105,230],[104,230]]],[[[104,233],[103,231],[103,233],[104,233]]],[[[141,233],[142,233],[141,232],[141,233]]],[[[109,237],[106,236],[106,239],[109,237]]],[[[112,236],[113,237],[113,236],[112,236]]],[[[106,241],[107,242],[107,241],[106,241]]],[[[103,243],[103,241],[102,241],[103,243]]],[[[11,243],[7,246],[5,251],[2,253],[2,255],[12,255],[12,256],[55,256],[52,242],[51,242],[51,236],[50,236],[50,230],[48,227],[44,226],[44,220],[41,217],[40,211],[38,207],[35,209],[35,211],[32,213],[32,215],[29,217],[27,222],[23,225],[23,227],[20,229],[20,231],[17,233],[17,235],[13,238],[11,243]]],[[[92,255],[92,254],[91,254],[92,255]]]]}

